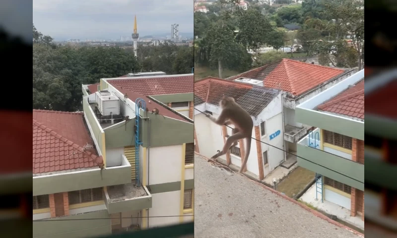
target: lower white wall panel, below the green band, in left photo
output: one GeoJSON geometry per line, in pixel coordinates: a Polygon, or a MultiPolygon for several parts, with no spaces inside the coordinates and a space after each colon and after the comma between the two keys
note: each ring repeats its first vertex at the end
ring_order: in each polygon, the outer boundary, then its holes
{"type": "MultiPolygon", "coordinates": [[[[179,163],[178,168],[180,168],[179,163]]],[[[180,169],[179,169],[180,170],[180,169]]],[[[163,227],[179,224],[179,217],[155,217],[155,216],[179,216],[181,191],[162,192],[152,194],[152,208],[149,208],[148,227],[163,227]]]]}

